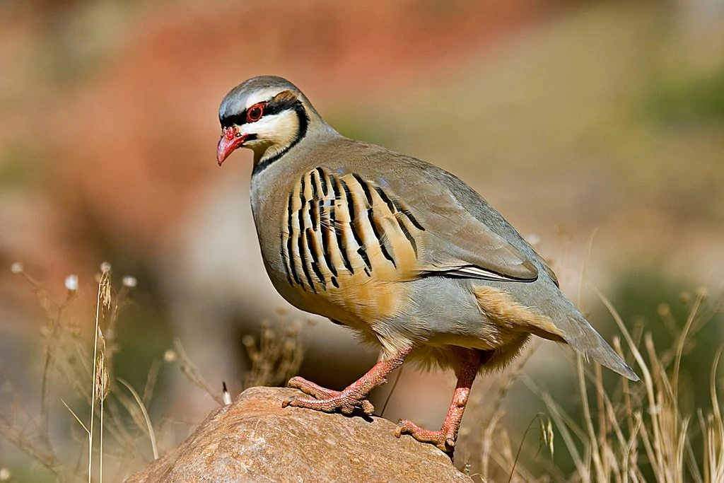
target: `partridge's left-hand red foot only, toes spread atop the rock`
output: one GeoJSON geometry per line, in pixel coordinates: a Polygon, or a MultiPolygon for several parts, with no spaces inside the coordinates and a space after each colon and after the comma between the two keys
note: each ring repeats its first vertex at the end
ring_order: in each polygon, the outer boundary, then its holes
{"type": "Polygon", "coordinates": [[[297,408],[315,409],[316,411],[324,411],[327,413],[340,410],[344,414],[352,414],[356,408],[361,408],[367,415],[374,412],[374,406],[367,400],[365,397],[366,394],[361,394],[361,392],[357,390],[350,390],[350,388],[348,388],[343,391],[334,391],[316,385],[301,377],[293,377],[287,383],[287,386],[295,387],[315,399],[290,398],[282,403],[282,408],[295,406],[297,408]]]}

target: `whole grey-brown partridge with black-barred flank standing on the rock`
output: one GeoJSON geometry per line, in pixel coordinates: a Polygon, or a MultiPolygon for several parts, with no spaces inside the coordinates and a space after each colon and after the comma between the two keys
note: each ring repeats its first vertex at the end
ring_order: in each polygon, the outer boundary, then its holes
{"type": "Polygon", "coordinates": [[[399,421],[452,455],[478,374],[505,367],[531,336],[636,373],[565,298],[550,266],[455,175],[341,135],[282,77],[253,77],[219,106],[222,165],[253,151],[251,209],[264,267],[303,311],[352,329],[379,361],[344,390],[293,377],[283,406],[371,415],[369,392],[405,361],[458,378],[439,430],[399,421]]]}

